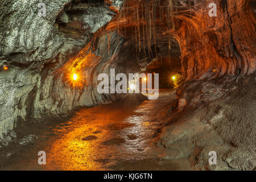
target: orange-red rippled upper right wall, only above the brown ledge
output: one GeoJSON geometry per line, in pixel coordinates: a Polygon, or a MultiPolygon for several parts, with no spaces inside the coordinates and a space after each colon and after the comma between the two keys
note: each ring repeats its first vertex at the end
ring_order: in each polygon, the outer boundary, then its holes
{"type": "Polygon", "coordinates": [[[183,55],[183,74],[192,78],[250,75],[255,71],[255,16],[250,1],[196,1],[176,32],[183,55]],[[217,16],[210,17],[210,3],[217,16]]]}

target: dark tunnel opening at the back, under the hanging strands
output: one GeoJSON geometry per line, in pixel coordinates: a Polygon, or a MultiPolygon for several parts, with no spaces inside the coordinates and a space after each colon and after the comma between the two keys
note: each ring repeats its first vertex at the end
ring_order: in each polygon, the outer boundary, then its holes
{"type": "Polygon", "coordinates": [[[158,44],[152,43],[150,49],[137,48],[138,43],[130,43],[128,46],[121,47],[122,54],[119,55],[121,63],[119,67],[125,70],[135,68],[138,73],[144,73],[145,77],[140,78],[140,90],[142,89],[143,79],[147,81],[147,74],[152,74],[152,89],[154,89],[154,74],[159,74],[159,89],[177,88],[182,84],[183,76],[181,72],[181,52],[179,43],[175,39],[171,39],[170,43],[166,40],[160,41],[158,44]],[[123,56],[123,55],[126,56],[123,56]],[[177,84],[179,75],[179,84],[177,84]],[[175,79],[174,79],[175,77],[175,79]]]}

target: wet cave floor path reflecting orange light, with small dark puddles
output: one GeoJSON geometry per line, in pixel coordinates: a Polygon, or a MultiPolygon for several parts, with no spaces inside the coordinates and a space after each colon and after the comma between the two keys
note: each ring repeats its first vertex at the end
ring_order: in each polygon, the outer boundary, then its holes
{"type": "Polygon", "coordinates": [[[157,100],[139,106],[115,102],[81,109],[38,131],[39,139],[1,170],[191,170],[188,159],[160,158],[155,147],[174,100],[175,90],[162,89],[157,100]],[[46,165],[38,164],[39,151],[46,152],[46,165]]]}

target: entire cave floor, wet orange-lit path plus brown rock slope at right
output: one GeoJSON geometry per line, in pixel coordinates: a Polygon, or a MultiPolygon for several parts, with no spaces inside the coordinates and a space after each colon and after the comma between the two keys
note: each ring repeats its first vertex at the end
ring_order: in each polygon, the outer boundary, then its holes
{"type": "Polygon", "coordinates": [[[253,170],[255,76],[234,85],[220,99],[183,111],[175,109],[176,90],[168,89],[139,105],[125,100],[80,109],[1,146],[1,169],[253,170]],[[42,150],[47,164],[40,166],[42,150]],[[216,151],[217,165],[208,164],[209,151],[216,151]]]}

